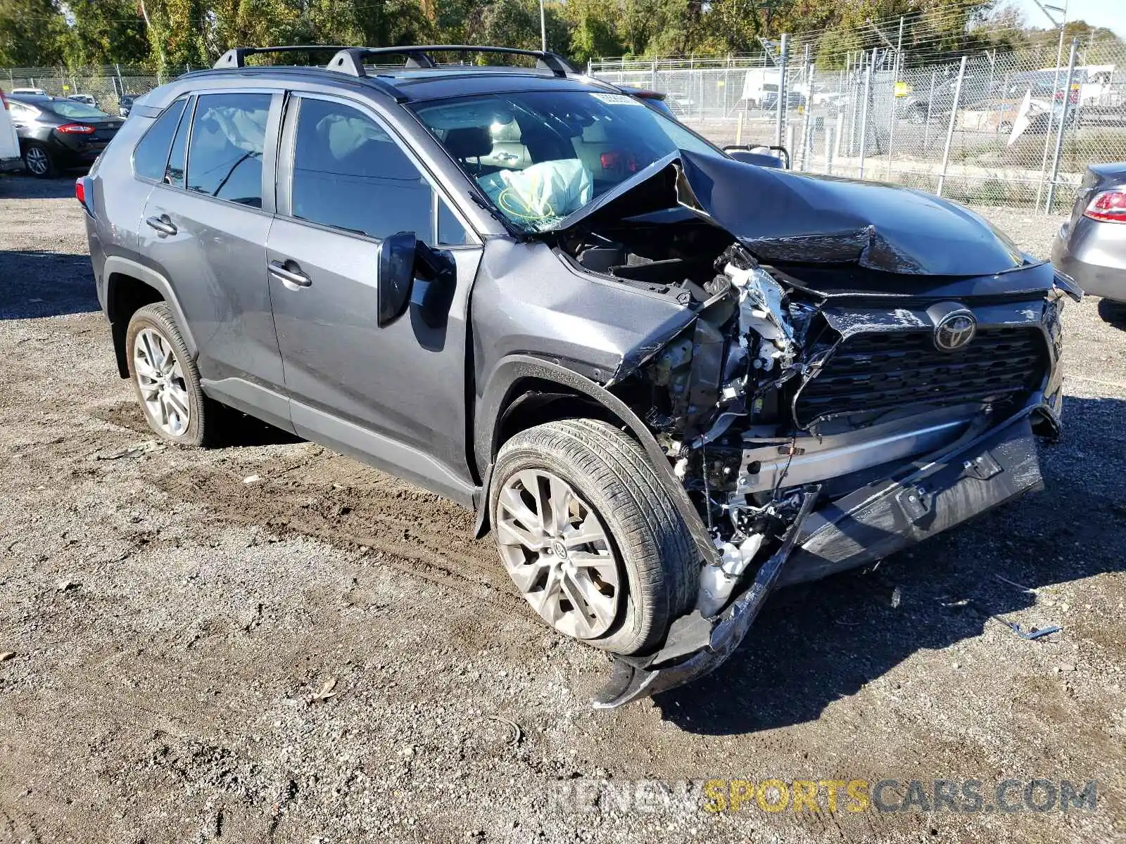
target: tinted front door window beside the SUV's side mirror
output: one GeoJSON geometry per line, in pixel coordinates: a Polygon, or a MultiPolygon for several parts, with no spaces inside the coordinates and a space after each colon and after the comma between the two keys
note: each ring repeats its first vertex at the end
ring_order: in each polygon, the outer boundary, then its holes
{"type": "Polygon", "coordinates": [[[291,197],[298,219],[431,242],[434,189],[382,126],[341,102],[301,99],[291,197]]]}

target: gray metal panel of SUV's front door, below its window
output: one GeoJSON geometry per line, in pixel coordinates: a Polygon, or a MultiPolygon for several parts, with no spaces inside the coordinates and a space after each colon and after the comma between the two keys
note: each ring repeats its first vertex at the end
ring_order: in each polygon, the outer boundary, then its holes
{"type": "MultiPolygon", "coordinates": [[[[480,250],[452,251],[457,289],[449,318],[438,329],[427,326],[414,305],[378,326],[378,252],[369,240],[292,219],[274,223],[267,260],[300,267],[311,281],[294,287],[270,280],[294,422],[296,403],[306,404],[434,455],[467,478],[465,317],[480,250]]],[[[427,284],[415,279],[415,300],[427,284]]],[[[316,439],[315,431],[297,433],[316,439]]],[[[427,483],[394,456],[373,457],[427,483]]]]}

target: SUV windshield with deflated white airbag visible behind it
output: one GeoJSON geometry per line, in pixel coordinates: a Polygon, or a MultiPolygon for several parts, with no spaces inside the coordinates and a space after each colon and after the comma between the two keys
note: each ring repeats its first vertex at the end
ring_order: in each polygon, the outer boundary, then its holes
{"type": "Polygon", "coordinates": [[[543,232],[678,149],[722,155],[623,93],[521,91],[414,107],[518,228],[543,232]]]}

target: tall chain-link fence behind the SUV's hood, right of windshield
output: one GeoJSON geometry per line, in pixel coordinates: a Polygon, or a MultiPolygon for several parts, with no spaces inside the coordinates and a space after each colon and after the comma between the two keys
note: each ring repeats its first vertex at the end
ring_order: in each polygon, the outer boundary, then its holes
{"type": "Polygon", "coordinates": [[[668,95],[720,144],[783,144],[794,168],[893,181],[968,203],[1060,210],[1088,164],[1126,160],[1126,45],[1063,45],[1062,61],[995,51],[913,64],[891,47],[826,70],[783,39],[725,60],[591,62],[668,95]],[[796,59],[796,61],[795,61],[796,59]]]}

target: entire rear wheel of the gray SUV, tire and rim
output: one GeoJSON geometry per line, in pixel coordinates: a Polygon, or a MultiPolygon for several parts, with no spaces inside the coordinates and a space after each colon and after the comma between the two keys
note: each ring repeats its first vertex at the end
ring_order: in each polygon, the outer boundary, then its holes
{"type": "Polygon", "coordinates": [[[133,314],[125,349],[149,427],[180,446],[212,445],[215,405],[204,396],[196,362],[167,304],[145,305],[133,314]]]}

